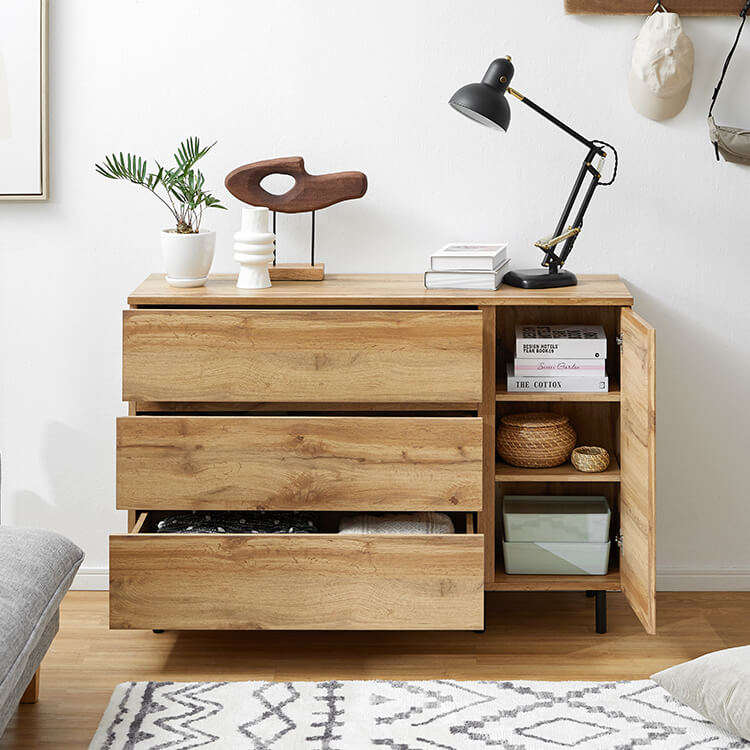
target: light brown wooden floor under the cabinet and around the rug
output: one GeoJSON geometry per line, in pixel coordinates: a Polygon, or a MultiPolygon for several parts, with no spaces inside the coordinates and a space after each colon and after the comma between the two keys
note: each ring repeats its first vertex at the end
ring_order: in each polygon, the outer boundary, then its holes
{"type": "Polygon", "coordinates": [[[36,705],[21,706],[1,750],[86,748],[119,682],[130,680],[643,679],[708,651],[750,643],[750,592],[664,593],[648,636],[621,594],[609,633],[582,593],[498,593],[483,634],[109,631],[107,595],[71,592],[42,665],[36,705]],[[507,617],[505,616],[507,615],[507,617]]]}

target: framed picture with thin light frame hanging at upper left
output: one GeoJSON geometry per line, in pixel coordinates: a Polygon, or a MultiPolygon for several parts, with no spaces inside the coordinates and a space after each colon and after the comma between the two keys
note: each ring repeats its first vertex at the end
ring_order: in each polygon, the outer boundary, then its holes
{"type": "Polygon", "coordinates": [[[48,0],[0,4],[0,201],[49,198],[48,0]]]}

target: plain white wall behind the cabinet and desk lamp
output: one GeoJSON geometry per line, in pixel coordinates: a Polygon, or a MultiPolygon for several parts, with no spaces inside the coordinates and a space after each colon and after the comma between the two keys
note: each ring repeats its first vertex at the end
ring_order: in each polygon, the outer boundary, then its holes
{"type": "MultiPolygon", "coordinates": [[[[124,528],[120,311],[161,269],[156,232],[169,217],[94,161],[218,139],[206,172],[231,211],[208,218],[215,271],[234,270],[239,220],[223,176],[293,154],[370,180],[364,200],[320,215],[331,272],[418,272],[455,239],[507,240],[517,264],[534,265],[581,148],[518,103],[505,136],[446,104],[512,54],[516,88],[620,150],[619,180],[596,196],[571,267],[621,274],[658,329],[660,586],[750,587],[750,168],[717,164],[705,123],[736,21],[685,21],[693,91],[657,124],[626,93],[640,19],[566,17],[562,4],[52,0],[52,200],[0,205],[3,522],[71,536],[87,553],[79,584],[92,586],[105,582],[107,535],[124,528]]],[[[750,32],[718,108],[726,124],[750,124],[749,73],[750,32]]],[[[308,224],[282,219],[291,260],[308,224]]]]}

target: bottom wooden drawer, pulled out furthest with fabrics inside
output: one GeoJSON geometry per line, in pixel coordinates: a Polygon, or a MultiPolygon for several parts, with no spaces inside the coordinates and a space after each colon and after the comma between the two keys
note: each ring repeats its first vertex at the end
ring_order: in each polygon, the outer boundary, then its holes
{"type": "Polygon", "coordinates": [[[476,630],[484,539],[455,534],[156,534],[141,513],[110,537],[110,627],[476,630]]]}

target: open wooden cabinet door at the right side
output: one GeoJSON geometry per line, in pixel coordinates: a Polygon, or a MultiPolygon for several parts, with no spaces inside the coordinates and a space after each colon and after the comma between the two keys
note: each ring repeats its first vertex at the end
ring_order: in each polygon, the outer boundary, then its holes
{"type": "Polygon", "coordinates": [[[656,632],[655,331],[621,315],[620,580],[646,632],[656,632]]]}

